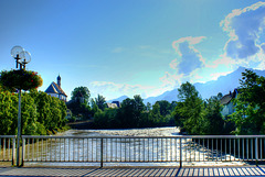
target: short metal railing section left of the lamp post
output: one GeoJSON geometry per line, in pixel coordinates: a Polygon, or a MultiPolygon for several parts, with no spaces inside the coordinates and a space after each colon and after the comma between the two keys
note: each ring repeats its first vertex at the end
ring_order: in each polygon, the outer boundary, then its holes
{"type": "Polygon", "coordinates": [[[0,135],[0,162],[12,162],[15,158],[15,135],[0,135]]]}

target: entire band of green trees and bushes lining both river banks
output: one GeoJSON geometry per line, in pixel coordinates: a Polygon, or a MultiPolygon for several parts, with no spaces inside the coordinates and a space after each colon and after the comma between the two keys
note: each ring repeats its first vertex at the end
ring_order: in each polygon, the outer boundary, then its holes
{"type": "MultiPolygon", "coordinates": [[[[95,129],[151,128],[177,125],[188,134],[264,134],[265,133],[265,78],[251,70],[242,74],[235,111],[223,118],[222,93],[206,100],[190,82],[178,89],[179,101],[157,101],[145,104],[140,96],[127,98],[121,108],[106,108],[100,95],[89,98],[86,87],[77,87],[67,103],[73,118],[94,118],[95,129]],[[82,92],[82,99],[78,96],[82,92]]],[[[31,90],[22,93],[22,134],[45,135],[66,129],[66,106],[45,92],[31,90]]],[[[1,134],[17,134],[18,95],[0,86],[1,134]]]]}

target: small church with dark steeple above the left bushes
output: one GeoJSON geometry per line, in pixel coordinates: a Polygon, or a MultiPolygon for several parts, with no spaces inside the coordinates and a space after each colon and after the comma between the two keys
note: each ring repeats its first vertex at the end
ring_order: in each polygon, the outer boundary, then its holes
{"type": "Polygon", "coordinates": [[[45,90],[45,92],[52,97],[56,97],[60,100],[63,101],[67,101],[67,96],[66,93],[63,91],[63,89],[61,88],[61,77],[59,75],[57,77],[57,84],[55,84],[54,81],[47,87],[47,89],[45,90]]]}

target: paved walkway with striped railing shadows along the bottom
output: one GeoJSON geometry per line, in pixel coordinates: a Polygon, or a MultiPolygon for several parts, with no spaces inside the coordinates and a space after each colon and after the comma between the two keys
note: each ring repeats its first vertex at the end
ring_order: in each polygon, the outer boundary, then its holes
{"type": "Polygon", "coordinates": [[[0,167],[0,176],[265,176],[265,166],[183,168],[0,167]]]}

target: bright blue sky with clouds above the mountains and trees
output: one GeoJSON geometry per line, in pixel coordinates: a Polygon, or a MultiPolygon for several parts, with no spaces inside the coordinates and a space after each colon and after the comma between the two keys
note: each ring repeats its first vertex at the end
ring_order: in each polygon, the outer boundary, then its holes
{"type": "Polygon", "coordinates": [[[0,70],[32,55],[44,91],[60,74],[71,97],[107,100],[265,68],[265,2],[255,0],[0,0],[0,70]]]}

